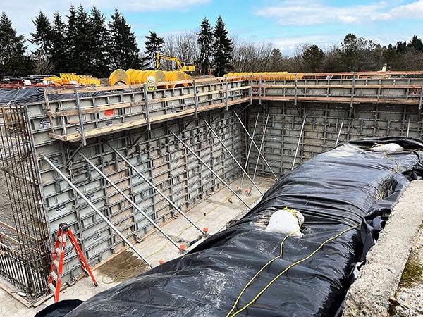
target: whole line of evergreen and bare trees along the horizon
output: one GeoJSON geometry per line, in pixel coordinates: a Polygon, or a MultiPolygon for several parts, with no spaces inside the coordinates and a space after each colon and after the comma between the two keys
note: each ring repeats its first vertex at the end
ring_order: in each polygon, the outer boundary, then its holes
{"type": "MultiPolygon", "coordinates": [[[[78,73],[108,77],[116,68],[154,69],[155,52],[194,63],[196,75],[221,76],[230,71],[336,72],[380,70],[422,70],[423,43],[414,35],[409,42],[381,46],[348,34],[340,44],[324,49],[316,44],[299,44],[290,55],[270,43],[239,41],[228,35],[222,18],[212,26],[204,18],[197,32],[159,37],[150,31],[145,48],[125,17],[117,10],[106,20],[96,6],[70,6],[64,17],[51,20],[39,12],[32,20],[34,32],[25,39],[18,35],[6,13],[0,15],[0,75],[44,75],[78,73]],[[27,43],[33,50],[27,54],[27,43]]],[[[172,63],[162,63],[171,69],[172,63]]]]}

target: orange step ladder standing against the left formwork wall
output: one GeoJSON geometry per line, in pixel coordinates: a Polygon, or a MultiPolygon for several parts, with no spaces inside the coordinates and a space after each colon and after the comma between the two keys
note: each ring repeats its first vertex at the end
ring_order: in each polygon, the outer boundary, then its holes
{"type": "Polygon", "coordinates": [[[71,240],[71,244],[75,250],[76,255],[78,255],[78,259],[81,263],[81,267],[85,275],[87,275],[87,277],[90,276],[92,282],[94,282],[94,285],[98,286],[94,275],[92,275],[90,266],[87,263],[87,259],[85,259],[78,241],[76,241],[76,238],[72,233],[71,227],[69,227],[67,223],[61,223],[59,225],[59,231],[57,232],[56,242],[54,242],[53,251],[51,252],[51,266],[47,282],[47,294],[49,292],[54,294],[54,302],[59,302],[61,278],[63,273],[63,259],[65,257],[66,240],[68,237],[69,240],[71,240]]]}

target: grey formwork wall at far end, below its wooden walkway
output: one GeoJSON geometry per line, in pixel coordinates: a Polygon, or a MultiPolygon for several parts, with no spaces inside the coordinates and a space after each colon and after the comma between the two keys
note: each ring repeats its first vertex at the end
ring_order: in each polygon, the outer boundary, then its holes
{"type": "MultiPolygon", "coordinates": [[[[402,104],[326,104],[263,101],[249,107],[248,129],[250,134],[259,113],[255,142],[259,146],[262,131],[270,113],[264,136],[264,155],[276,174],[286,174],[291,170],[295,149],[304,120],[305,128],[300,139],[295,166],[327,151],[339,141],[362,137],[410,137],[422,138],[423,123],[416,105],[402,104]]],[[[248,168],[254,170],[257,150],[252,147],[248,168]]],[[[259,160],[258,170],[269,173],[266,164],[259,160]]]]}

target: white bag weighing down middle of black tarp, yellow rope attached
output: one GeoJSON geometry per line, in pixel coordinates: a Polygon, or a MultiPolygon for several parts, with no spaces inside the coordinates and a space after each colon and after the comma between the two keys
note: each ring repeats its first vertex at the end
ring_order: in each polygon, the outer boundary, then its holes
{"type": "Polygon", "coordinates": [[[304,223],[304,216],[295,209],[278,209],[275,211],[266,227],[266,232],[281,233],[292,237],[302,237],[300,227],[304,223]]]}

